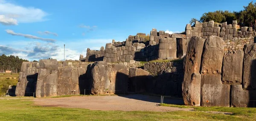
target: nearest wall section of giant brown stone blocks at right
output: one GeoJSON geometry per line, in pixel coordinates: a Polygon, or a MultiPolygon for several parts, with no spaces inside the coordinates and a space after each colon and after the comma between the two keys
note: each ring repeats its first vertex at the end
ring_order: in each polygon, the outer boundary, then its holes
{"type": "Polygon", "coordinates": [[[256,107],[256,43],[244,50],[224,46],[221,37],[191,37],[182,84],[186,105],[256,107]]]}

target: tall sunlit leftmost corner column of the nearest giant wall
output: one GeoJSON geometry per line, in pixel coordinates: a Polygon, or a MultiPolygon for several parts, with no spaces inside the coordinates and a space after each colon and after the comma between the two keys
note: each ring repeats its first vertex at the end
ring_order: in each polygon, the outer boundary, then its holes
{"type": "Polygon", "coordinates": [[[205,39],[192,37],[189,41],[188,51],[184,60],[184,80],[182,83],[182,95],[186,105],[200,106],[201,94],[201,56],[205,39]]]}

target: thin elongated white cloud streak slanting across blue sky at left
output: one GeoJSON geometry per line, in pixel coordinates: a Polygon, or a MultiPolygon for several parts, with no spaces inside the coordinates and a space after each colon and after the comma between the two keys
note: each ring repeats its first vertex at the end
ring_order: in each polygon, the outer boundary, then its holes
{"type": "Polygon", "coordinates": [[[7,32],[7,34],[10,34],[10,35],[23,36],[25,38],[30,38],[30,39],[38,39],[38,40],[43,40],[43,41],[48,41],[48,42],[55,42],[56,41],[54,39],[41,38],[41,37],[37,37],[37,36],[34,36],[34,35],[15,33],[14,31],[12,31],[10,29],[7,29],[6,32],[7,32]]]}

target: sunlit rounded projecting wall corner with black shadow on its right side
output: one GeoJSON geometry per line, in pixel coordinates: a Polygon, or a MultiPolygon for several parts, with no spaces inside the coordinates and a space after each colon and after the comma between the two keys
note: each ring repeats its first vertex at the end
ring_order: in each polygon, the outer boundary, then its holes
{"type": "Polygon", "coordinates": [[[123,64],[96,62],[92,69],[92,94],[126,93],[128,68],[123,64]]]}

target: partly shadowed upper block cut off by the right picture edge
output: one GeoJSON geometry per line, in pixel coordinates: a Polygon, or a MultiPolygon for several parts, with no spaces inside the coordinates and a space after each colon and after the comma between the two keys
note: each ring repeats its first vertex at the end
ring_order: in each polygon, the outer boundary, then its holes
{"type": "Polygon", "coordinates": [[[243,88],[256,89],[256,43],[244,46],[243,88]]]}

